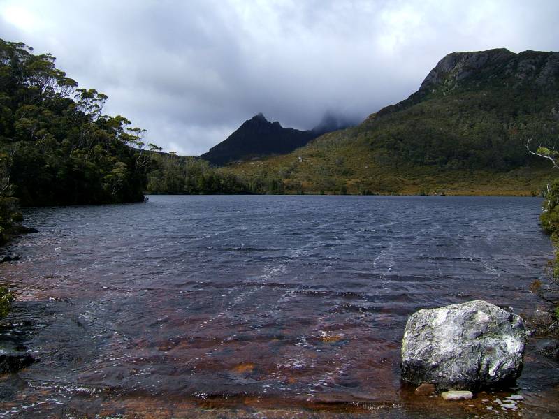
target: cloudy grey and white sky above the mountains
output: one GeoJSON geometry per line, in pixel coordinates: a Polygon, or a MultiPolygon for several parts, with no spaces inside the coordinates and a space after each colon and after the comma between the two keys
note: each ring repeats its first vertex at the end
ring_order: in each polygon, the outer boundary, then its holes
{"type": "Polygon", "coordinates": [[[52,53],[108,115],[194,156],[259,112],[362,120],[450,52],[559,51],[559,1],[0,0],[0,38],[52,53]]]}

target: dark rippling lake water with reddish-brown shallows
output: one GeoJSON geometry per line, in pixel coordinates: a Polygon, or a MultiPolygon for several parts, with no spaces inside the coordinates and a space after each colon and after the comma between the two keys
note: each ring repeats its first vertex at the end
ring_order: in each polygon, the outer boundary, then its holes
{"type": "MultiPolygon", "coordinates": [[[[13,332],[27,328],[41,361],[0,376],[0,417],[494,414],[401,388],[400,341],[421,308],[533,309],[552,253],[540,211],[537,198],[357,196],[26,210],[40,233],[0,270],[13,332]]],[[[558,413],[557,375],[528,353],[525,414],[558,413]]]]}

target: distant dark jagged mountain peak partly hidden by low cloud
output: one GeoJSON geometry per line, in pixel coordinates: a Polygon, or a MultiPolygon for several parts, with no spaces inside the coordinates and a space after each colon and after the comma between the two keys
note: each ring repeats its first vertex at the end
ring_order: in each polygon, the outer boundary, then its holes
{"type": "Polygon", "coordinates": [[[295,128],[283,128],[277,121],[269,122],[259,113],[200,157],[215,165],[224,165],[256,156],[285,154],[303,147],[319,135],[345,128],[347,124],[346,119],[327,114],[317,127],[310,131],[300,131],[295,128]]]}

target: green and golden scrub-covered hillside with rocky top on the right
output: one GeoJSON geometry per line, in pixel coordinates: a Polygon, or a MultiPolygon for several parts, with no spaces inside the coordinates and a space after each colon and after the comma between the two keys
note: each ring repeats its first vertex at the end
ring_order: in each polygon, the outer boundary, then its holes
{"type": "Polygon", "coordinates": [[[559,53],[460,52],[363,124],[232,170],[290,193],[525,195],[555,175],[525,143],[558,135],[559,53]]]}

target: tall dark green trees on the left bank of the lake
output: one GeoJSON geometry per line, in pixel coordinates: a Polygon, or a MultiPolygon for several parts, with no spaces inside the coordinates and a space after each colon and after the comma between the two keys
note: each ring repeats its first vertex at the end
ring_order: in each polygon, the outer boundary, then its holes
{"type": "Polygon", "coordinates": [[[145,131],[104,115],[107,96],[79,89],[55,60],[0,40],[0,196],[22,205],[143,200],[145,131]]]}

